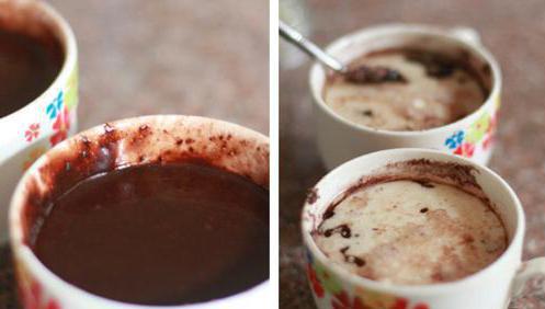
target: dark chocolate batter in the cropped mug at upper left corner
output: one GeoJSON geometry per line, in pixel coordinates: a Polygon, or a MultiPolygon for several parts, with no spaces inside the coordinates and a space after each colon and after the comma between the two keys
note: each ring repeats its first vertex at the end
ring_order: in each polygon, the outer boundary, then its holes
{"type": "Polygon", "coordinates": [[[0,28],[0,117],[38,98],[63,66],[57,42],[0,28]]]}

